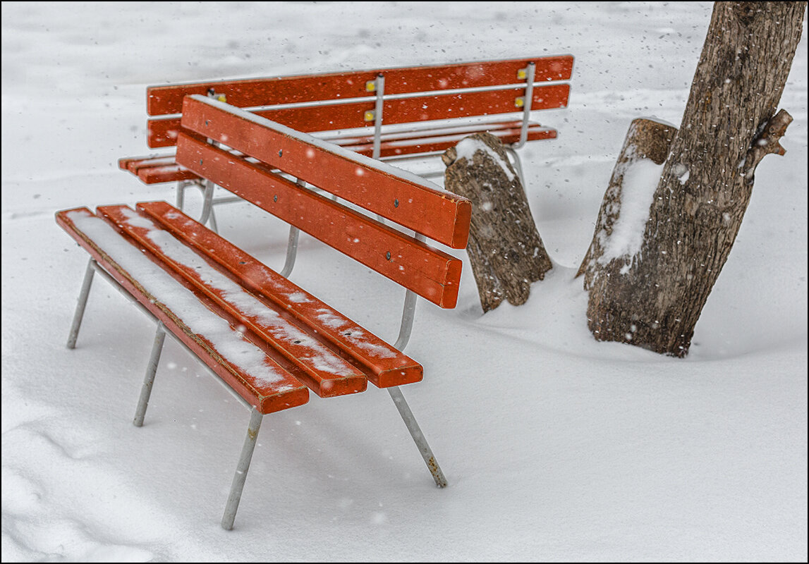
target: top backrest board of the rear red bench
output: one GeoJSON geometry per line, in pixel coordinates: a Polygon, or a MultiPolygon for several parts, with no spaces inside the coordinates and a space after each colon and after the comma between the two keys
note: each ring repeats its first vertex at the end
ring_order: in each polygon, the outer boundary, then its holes
{"type": "Polygon", "coordinates": [[[574,59],[570,55],[531,57],[518,60],[154,86],[146,90],[146,111],[150,116],[180,113],[184,96],[206,95],[211,89],[216,94],[225,95],[228,104],[239,108],[306,103],[334,98],[373,97],[375,92],[368,91],[366,83],[375,80],[379,74],[385,77],[386,94],[439,91],[447,87],[477,88],[515,84],[524,82],[524,78],[518,78],[518,72],[532,61],[536,63],[535,82],[542,83],[569,79],[574,59]]]}

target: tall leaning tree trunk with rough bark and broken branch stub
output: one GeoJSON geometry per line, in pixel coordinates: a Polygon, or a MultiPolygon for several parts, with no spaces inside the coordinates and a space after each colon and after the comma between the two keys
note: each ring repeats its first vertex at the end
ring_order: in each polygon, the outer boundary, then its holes
{"type": "Polygon", "coordinates": [[[774,114],[806,5],[715,3],[682,125],[648,202],[641,248],[619,261],[590,262],[587,318],[599,341],[688,354],[739,232],[756,166],[784,152],[778,139],[791,117],[774,114]]]}

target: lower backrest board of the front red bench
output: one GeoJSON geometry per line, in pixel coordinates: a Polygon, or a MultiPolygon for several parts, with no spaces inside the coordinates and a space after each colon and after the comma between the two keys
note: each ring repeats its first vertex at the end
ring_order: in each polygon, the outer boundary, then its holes
{"type": "Polygon", "coordinates": [[[180,134],[176,159],[430,302],[455,307],[462,264],[459,259],[201,138],[180,134]]]}

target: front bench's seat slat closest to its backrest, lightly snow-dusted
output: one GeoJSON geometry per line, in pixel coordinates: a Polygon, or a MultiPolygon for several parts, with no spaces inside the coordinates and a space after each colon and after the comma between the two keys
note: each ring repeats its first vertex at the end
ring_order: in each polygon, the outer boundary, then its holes
{"type": "Polygon", "coordinates": [[[171,231],[189,247],[205,254],[211,261],[239,278],[248,290],[284,307],[296,319],[307,324],[320,336],[332,342],[349,362],[366,372],[368,380],[379,388],[421,381],[421,365],[393,348],[387,342],[290,280],[277,274],[256,258],[231,244],[200,223],[164,201],[142,202],[138,210],[171,231]]]}

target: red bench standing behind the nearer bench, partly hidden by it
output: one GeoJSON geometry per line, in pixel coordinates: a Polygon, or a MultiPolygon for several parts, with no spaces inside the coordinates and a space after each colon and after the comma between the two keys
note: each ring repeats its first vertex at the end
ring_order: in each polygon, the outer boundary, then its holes
{"type": "MultiPolygon", "coordinates": [[[[148,87],[146,112],[153,118],[147,143],[176,145],[184,96],[209,95],[381,160],[440,155],[464,137],[488,131],[506,146],[522,178],[516,150],[557,137],[556,129],[531,121],[531,113],[567,106],[570,84],[563,81],[570,79],[573,61],[570,55],[531,57],[148,87]]],[[[146,184],[177,181],[180,209],[186,188],[205,191],[200,177],[171,154],[120,159],[119,166],[146,184]]],[[[438,175],[443,167],[421,174],[438,175]]],[[[206,201],[212,197],[209,186],[206,201]]]]}

